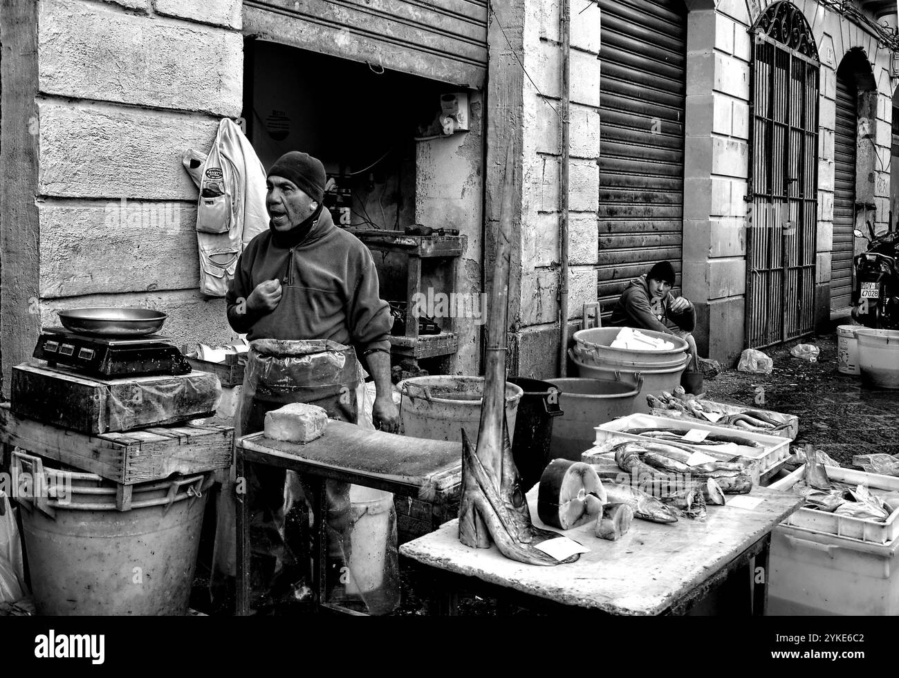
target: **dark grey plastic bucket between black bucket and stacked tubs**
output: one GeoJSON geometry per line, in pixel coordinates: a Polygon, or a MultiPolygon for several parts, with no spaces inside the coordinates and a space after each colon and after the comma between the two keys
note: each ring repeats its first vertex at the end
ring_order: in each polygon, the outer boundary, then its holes
{"type": "Polygon", "coordinates": [[[553,425],[551,457],[575,462],[593,446],[593,427],[633,414],[640,392],[638,380],[566,378],[549,383],[560,389],[559,407],[565,412],[553,425]]]}

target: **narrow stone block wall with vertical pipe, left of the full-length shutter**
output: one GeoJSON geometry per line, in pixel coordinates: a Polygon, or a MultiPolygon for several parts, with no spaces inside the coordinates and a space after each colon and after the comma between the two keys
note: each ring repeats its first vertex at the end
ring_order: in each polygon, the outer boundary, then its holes
{"type": "MultiPolygon", "coordinates": [[[[562,162],[562,46],[557,0],[523,3],[521,229],[510,286],[511,369],[521,376],[558,374],[559,188],[562,162]]],[[[568,184],[568,320],[596,300],[599,263],[600,9],[572,0],[568,184]]],[[[491,70],[492,76],[495,71],[491,70]]],[[[501,75],[502,77],[502,75],[501,75]]],[[[489,191],[489,187],[488,187],[489,191]]],[[[570,336],[570,335],[569,335],[570,336]]]]}

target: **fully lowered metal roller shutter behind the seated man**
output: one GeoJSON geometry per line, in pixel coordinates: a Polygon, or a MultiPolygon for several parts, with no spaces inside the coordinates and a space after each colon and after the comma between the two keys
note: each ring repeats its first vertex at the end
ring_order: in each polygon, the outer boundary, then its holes
{"type": "Polygon", "coordinates": [[[599,298],[610,313],[658,260],[681,270],[686,9],[600,0],[599,298]]]}

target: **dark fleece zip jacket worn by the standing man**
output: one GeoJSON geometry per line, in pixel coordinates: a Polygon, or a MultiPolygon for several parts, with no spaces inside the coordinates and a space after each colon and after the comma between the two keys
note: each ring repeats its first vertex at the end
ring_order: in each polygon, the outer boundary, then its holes
{"type": "MultiPolygon", "coordinates": [[[[226,295],[227,320],[247,339],[331,339],[357,355],[390,350],[393,319],[378,296],[378,271],[369,249],[336,226],[328,210],[297,244],[279,245],[271,230],[257,235],[237,262],[226,295]],[[278,278],[274,311],[254,313],[245,300],[278,278]]],[[[282,239],[277,239],[282,240],[282,239]]]]}

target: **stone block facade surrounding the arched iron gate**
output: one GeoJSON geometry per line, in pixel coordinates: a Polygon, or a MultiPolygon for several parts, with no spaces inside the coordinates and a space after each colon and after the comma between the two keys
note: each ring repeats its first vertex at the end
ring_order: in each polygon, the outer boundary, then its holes
{"type": "MultiPolygon", "coordinates": [[[[746,276],[744,198],[750,158],[752,42],[747,29],[769,5],[747,0],[690,0],[688,6],[687,111],[684,169],[684,294],[697,304],[700,353],[734,362],[743,348],[746,276]]],[[[833,231],[833,129],[836,69],[852,48],[868,58],[877,82],[873,153],[859,151],[857,176],[877,206],[878,228],[889,210],[892,93],[889,54],[877,38],[814,0],[797,7],[812,25],[821,59],[818,138],[818,227],[816,308],[820,325],[829,319],[833,231]],[[873,180],[873,181],[872,181],[873,180]]],[[[859,149],[868,140],[859,139],[859,149]]],[[[868,199],[868,198],[859,198],[868,199]]],[[[857,243],[857,248],[859,243],[857,243]]]]}

